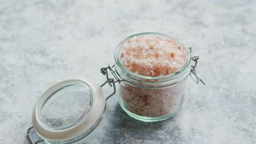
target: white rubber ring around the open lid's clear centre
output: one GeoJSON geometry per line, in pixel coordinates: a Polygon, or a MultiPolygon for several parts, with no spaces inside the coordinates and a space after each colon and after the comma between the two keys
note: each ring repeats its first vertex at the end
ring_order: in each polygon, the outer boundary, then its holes
{"type": "MultiPolygon", "coordinates": [[[[34,130],[38,133],[38,135],[45,140],[52,140],[52,141],[63,141],[63,140],[70,140],[75,137],[78,137],[85,133],[86,131],[90,130],[92,125],[94,125],[97,120],[101,117],[106,100],[104,98],[104,94],[102,92],[102,89],[100,85],[97,85],[94,81],[90,79],[69,79],[72,81],[80,81],[87,83],[90,87],[92,92],[94,92],[95,99],[94,103],[92,104],[92,107],[90,111],[88,112],[87,116],[84,117],[79,123],[75,124],[73,127],[68,128],[68,129],[63,129],[63,130],[51,130],[48,129],[47,127],[44,127],[44,124],[40,124],[39,122],[39,117],[38,117],[38,107],[39,103],[44,100],[45,97],[44,94],[42,97],[40,97],[37,100],[37,103],[33,107],[33,112],[32,112],[32,124],[34,127],[34,130]]],[[[65,80],[68,81],[68,80],[65,80]]],[[[50,91],[53,87],[60,85],[64,81],[61,81],[54,86],[51,86],[46,92],[50,91]]]]}

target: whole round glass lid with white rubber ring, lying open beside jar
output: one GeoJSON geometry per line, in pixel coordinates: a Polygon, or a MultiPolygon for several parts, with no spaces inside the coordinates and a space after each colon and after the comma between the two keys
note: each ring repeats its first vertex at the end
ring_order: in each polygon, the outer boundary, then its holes
{"type": "Polygon", "coordinates": [[[61,81],[45,91],[34,106],[34,130],[50,143],[78,141],[100,124],[105,103],[102,89],[94,81],[61,81]]]}

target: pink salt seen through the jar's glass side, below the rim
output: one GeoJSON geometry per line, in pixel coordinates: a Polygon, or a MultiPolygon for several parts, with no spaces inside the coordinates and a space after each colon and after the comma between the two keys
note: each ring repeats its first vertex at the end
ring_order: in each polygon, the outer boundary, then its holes
{"type": "Polygon", "coordinates": [[[161,117],[177,112],[184,95],[185,83],[161,89],[120,85],[120,96],[127,110],[143,117],[161,117]]]}

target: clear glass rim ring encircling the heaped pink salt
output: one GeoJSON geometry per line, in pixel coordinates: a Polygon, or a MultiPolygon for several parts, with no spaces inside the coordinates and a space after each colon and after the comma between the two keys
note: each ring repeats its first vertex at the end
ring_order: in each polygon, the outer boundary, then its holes
{"type": "Polygon", "coordinates": [[[146,80],[159,80],[159,79],[166,79],[166,78],[170,78],[170,77],[173,77],[173,76],[177,76],[178,74],[182,73],[184,70],[187,70],[187,68],[189,67],[190,65],[190,62],[191,62],[191,53],[190,53],[190,50],[188,49],[187,46],[184,45],[184,43],[179,40],[178,38],[175,38],[175,37],[172,37],[170,35],[167,35],[167,34],[164,34],[164,33],[157,33],[157,32],[145,32],[145,33],[138,33],[138,34],[133,34],[127,38],[125,38],[124,40],[122,40],[118,46],[115,48],[115,52],[114,52],[114,58],[115,58],[115,63],[118,64],[118,66],[124,70],[127,74],[129,75],[132,75],[132,76],[136,76],[138,78],[141,78],[141,79],[146,79],[146,80]],[[183,49],[185,50],[186,52],[186,62],[185,64],[183,65],[183,67],[181,67],[176,73],[172,73],[170,75],[164,75],[164,76],[144,76],[144,75],[138,75],[138,74],[135,74],[135,73],[132,73],[130,70],[126,69],[123,64],[121,64],[121,62],[119,61],[119,50],[121,48],[121,46],[123,46],[123,44],[135,37],[135,36],[138,36],[138,35],[161,35],[161,36],[164,36],[164,37],[167,37],[167,38],[170,38],[170,39],[173,39],[173,40],[176,40],[177,43],[179,45],[181,45],[183,47],[183,49]]]}

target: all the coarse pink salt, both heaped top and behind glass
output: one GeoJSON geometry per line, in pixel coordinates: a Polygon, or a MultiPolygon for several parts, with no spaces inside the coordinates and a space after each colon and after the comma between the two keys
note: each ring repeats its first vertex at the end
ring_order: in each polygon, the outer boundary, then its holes
{"type": "MultiPolygon", "coordinates": [[[[186,54],[177,41],[156,36],[141,35],[126,41],[120,49],[120,62],[133,73],[145,76],[163,76],[183,67],[186,54]]],[[[144,117],[172,115],[181,105],[185,82],[161,89],[120,85],[123,106],[144,117]]]]}

